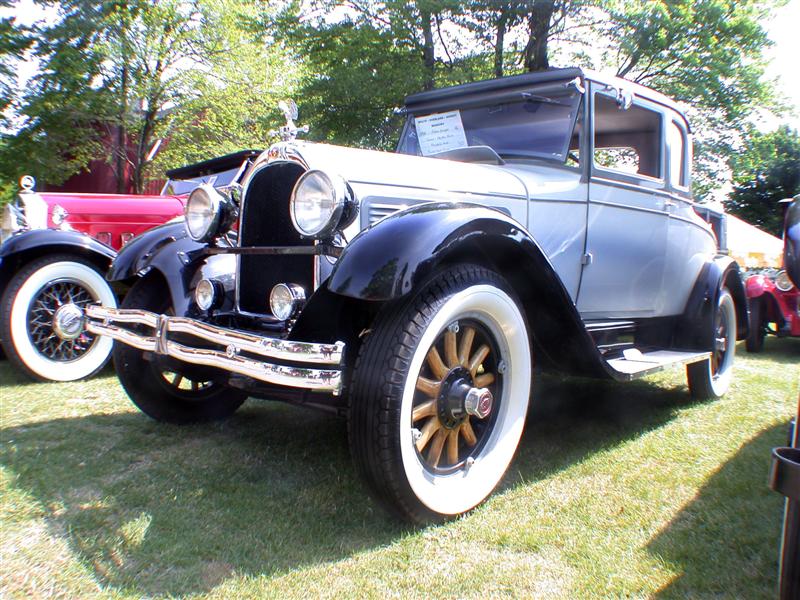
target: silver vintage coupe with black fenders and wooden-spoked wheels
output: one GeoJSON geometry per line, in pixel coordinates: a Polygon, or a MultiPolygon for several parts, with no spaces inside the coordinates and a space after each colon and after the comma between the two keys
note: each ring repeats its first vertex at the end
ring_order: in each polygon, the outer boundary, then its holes
{"type": "Polygon", "coordinates": [[[200,186],[173,241],[123,248],[109,278],[136,283],[85,327],[115,340],[143,412],[208,421],[252,396],[341,414],[374,495],[429,522],[497,486],[535,366],[686,365],[694,396],[726,392],[744,286],[694,211],[674,102],[570,68],[404,111],[397,153],[298,141],[290,118],[240,191],[200,186]]]}

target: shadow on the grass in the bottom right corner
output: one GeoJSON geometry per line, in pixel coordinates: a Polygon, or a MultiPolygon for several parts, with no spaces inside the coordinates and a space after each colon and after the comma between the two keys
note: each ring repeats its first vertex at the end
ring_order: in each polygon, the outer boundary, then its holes
{"type": "Polygon", "coordinates": [[[787,428],[745,444],[650,542],[648,550],[680,573],[658,597],[752,598],[753,590],[775,597],[783,498],[767,487],[767,474],[787,428]]]}

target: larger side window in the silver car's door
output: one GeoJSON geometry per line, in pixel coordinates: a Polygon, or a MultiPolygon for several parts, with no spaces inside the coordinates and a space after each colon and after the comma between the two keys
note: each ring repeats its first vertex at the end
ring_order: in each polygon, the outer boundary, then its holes
{"type": "Polygon", "coordinates": [[[635,104],[621,110],[611,96],[595,94],[593,158],[602,169],[663,177],[661,115],[635,104]]]}

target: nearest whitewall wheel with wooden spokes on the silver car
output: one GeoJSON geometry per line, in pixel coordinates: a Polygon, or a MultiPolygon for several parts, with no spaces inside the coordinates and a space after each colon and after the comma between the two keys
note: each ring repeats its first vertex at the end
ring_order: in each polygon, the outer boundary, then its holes
{"type": "Polygon", "coordinates": [[[505,281],[472,265],[443,272],[387,305],[361,347],[348,423],[356,467],[404,519],[462,514],[514,457],[530,384],[527,326],[505,281]],[[472,390],[489,392],[487,415],[464,412],[472,390]]]}

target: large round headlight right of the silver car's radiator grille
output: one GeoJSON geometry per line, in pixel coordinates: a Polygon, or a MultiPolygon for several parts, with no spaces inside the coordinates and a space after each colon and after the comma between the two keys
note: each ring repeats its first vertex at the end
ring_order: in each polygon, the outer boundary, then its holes
{"type": "Polygon", "coordinates": [[[326,238],[336,231],[347,201],[347,184],[322,171],[303,173],[294,186],[289,213],[303,237],[326,238]]]}

